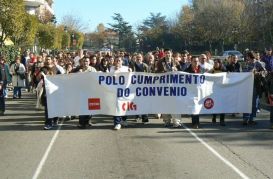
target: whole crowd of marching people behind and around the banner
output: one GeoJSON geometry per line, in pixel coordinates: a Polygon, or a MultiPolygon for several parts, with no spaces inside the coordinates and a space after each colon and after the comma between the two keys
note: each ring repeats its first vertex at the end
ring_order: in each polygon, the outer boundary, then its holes
{"type": "MultiPolygon", "coordinates": [[[[228,59],[212,58],[210,52],[198,56],[191,55],[187,50],[173,53],[171,49],[155,50],[153,52],[126,53],[117,52],[59,52],[49,55],[45,52],[40,55],[25,52],[7,64],[5,57],[0,57],[0,115],[5,112],[5,98],[7,98],[7,85],[12,83],[13,99],[22,98],[22,88],[37,93],[37,108],[45,108],[45,126],[48,130],[58,123],[58,118],[48,118],[44,75],[58,75],[83,72],[147,72],[165,73],[170,71],[183,71],[188,73],[219,73],[219,72],[253,72],[254,86],[252,96],[252,112],[243,114],[243,125],[256,125],[254,120],[260,111],[260,99],[263,95],[273,106],[273,54],[272,49],[265,54],[247,51],[242,63],[236,55],[228,59]],[[272,82],[271,82],[272,81],[272,82]]],[[[273,107],[270,108],[270,128],[273,129],[273,107]]],[[[225,126],[225,114],[213,114],[212,123],[216,124],[216,117],[220,116],[220,125],[225,126]]],[[[169,127],[181,126],[181,114],[156,114],[162,118],[164,125],[169,127]]],[[[84,129],[91,126],[90,115],[80,115],[78,127],[84,129]]],[[[68,118],[75,118],[68,116],[68,118]]],[[[136,116],[143,123],[149,122],[148,114],[136,116]]],[[[192,127],[200,127],[199,115],[191,115],[192,127]]],[[[126,116],[114,116],[114,129],[119,130],[127,124],[126,116]]]]}

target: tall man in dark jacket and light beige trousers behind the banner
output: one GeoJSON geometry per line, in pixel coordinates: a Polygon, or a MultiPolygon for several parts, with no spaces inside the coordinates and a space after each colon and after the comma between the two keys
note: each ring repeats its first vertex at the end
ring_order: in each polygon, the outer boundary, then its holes
{"type": "MultiPolygon", "coordinates": [[[[171,71],[178,71],[180,69],[179,62],[172,58],[171,49],[164,50],[165,57],[158,62],[157,73],[166,73],[171,71]]],[[[173,127],[181,126],[181,115],[180,114],[162,114],[165,127],[171,125],[171,119],[173,119],[173,127]]]]}

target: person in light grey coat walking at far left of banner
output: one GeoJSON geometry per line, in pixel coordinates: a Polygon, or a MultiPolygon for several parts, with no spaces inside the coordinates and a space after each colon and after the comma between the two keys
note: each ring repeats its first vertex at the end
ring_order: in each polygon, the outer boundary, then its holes
{"type": "Polygon", "coordinates": [[[20,62],[20,56],[15,58],[15,63],[10,67],[10,74],[12,75],[12,85],[13,89],[13,99],[21,98],[22,91],[21,88],[26,86],[26,68],[20,62]]]}

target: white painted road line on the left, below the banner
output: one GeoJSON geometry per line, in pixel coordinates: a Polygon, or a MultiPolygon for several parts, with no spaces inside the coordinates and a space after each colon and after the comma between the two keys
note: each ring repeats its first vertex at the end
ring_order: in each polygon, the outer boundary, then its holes
{"type": "Polygon", "coordinates": [[[57,131],[55,132],[54,136],[52,137],[52,139],[51,139],[51,141],[50,141],[50,144],[49,144],[49,146],[47,147],[46,152],[44,153],[44,156],[43,156],[42,160],[40,161],[40,163],[39,163],[39,165],[38,165],[38,167],[37,167],[37,169],[36,169],[36,171],[35,171],[35,173],[34,173],[32,179],[37,179],[37,178],[39,177],[39,175],[40,175],[40,173],[41,173],[41,171],[42,171],[42,169],[43,169],[43,166],[44,166],[44,164],[45,164],[45,162],[46,162],[46,160],[47,160],[48,154],[50,153],[50,151],[51,151],[51,149],[52,149],[52,146],[53,146],[54,142],[56,141],[56,139],[57,139],[57,137],[58,137],[58,134],[59,134],[59,132],[60,132],[60,129],[61,129],[61,127],[62,127],[62,124],[63,124],[63,120],[62,120],[61,124],[58,126],[58,129],[57,129],[57,131]]]}

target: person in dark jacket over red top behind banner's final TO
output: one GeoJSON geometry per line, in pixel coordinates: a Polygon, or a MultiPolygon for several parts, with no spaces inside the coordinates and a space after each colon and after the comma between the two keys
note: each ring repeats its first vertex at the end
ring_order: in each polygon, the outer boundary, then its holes
{"type": "MultiPolygon", "coordinates": [[[[205,71],[199,64],[199,58],[192,56],[191,58],[191,64],[190,66],[185,70],[185,72],[188,73],[201,73],[202,71],[205,71]]],[[[199,114],[193,114],[191,115],[191,120],[192,120],[192,127],[194,129],[200,128],[200,123],[199,123],[199,114]]]]}

